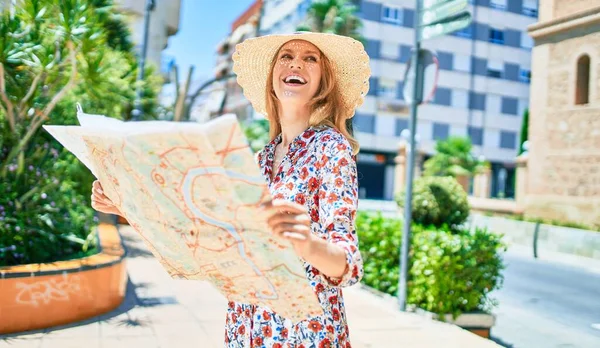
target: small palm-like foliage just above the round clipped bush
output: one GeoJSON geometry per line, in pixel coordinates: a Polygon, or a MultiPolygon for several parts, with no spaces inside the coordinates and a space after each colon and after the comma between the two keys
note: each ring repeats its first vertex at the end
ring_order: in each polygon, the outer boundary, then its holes
{"type": "Polygon", "coordinates": [[[477,174],[487,163],[475,158],[471,149],[471,140],[465,137],[449,137],[438,141],[436,154],[425,161],[423,175],[457,177],[477,174]]]}

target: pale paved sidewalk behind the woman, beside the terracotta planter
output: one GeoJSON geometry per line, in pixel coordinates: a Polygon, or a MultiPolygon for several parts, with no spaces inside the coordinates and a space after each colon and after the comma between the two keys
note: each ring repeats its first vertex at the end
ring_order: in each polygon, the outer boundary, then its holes
{"type": "MultiPolygon", "coordinates": [[[[116,311],[43,332],[0,336],[0,348],[223,347],[226,300],[209,283],[172,280],[129,226],[127,297],[116,311]]],[[[395,302],[344,290],[352,346],[499,347],[456,326],[395,309],[395,302]]]]}

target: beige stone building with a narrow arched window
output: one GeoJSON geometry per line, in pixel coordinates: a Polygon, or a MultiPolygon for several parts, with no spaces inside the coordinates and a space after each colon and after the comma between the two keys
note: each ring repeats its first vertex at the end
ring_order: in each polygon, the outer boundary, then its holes
{"type": "Polygon", "coordinates": [[[529,216],[600,225],[600,0],[539,10],[518,195],[529,216]]]}

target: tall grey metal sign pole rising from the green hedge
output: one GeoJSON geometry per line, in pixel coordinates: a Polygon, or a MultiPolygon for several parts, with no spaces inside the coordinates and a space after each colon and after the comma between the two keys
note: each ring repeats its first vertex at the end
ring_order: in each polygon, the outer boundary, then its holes
{"type": "Polygon", "coordinates": [[[406,174],[406,195],[404,199],[404,229],[402,232],[402,250],[400,255],[400,279],[398,284],[398,302],[401,311],[406,311],[407,282],[408,282],[408,251],[410,250],[410,224],[412,221],[412,182],[415,164],[415,135],[417,133],[417,108],[422,98],[422,67],[421,67],[421,43],[419,37],[419,25],[421,15],[421,0],[416,0],[415,6],[415,48],[412,55],[411,70],[408,75],[412,76],[413,83],[412,104],[410,106],[410,141],[408,146],[408,167],[406,174]]]}

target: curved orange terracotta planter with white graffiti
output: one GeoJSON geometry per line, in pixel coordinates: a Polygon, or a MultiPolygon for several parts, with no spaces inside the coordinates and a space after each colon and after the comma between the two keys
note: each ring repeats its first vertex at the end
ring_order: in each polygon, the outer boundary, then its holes
{"type": "Polygon", "coordinates": [[[44,329],[117,308],[125,298],[125,249],[113,225],[98,227],[100,252],[52,264],[0,267],[0,334],[44,329]]]}

